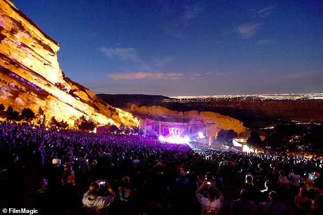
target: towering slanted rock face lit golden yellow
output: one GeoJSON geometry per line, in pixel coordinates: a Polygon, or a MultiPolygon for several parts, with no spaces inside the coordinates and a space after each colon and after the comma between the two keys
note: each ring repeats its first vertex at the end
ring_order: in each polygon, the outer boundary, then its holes
{"type": "Polygon", "coordinates": [[[41,107],[47,119],[69,122],[85,115],[99,124],[138,124],[130,113],[65,77],[57,61],[58,43],[7,0],[0,1],[0,40],[0,103],[35,113],[41,107]]]}

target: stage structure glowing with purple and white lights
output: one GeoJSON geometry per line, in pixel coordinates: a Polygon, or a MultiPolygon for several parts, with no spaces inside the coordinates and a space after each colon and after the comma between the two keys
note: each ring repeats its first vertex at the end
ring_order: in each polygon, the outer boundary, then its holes
{"type": "Polygon", "coordinates": [[[192,118],[150,116],[140,119],[139,125],[144,136],[157,137],[172,143],[194,141],[210,146],[219,132],[216,123],[208,124],[204,120],[192,118]]]}

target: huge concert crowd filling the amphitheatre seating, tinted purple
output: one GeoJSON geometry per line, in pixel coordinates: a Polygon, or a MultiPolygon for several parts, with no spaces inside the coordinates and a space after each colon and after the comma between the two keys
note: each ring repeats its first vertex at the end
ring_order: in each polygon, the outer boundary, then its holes
{"type": "Polygon", "coordinates": [[[0,123],[0,205],[39,214],[323,214],[323,162],[0,123]]]}

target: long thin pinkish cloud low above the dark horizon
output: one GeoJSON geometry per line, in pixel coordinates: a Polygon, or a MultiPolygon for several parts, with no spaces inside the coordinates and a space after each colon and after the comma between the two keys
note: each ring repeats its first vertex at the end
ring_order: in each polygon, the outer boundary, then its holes
{"type": "Polygon", "coordinates": [[[136,72],[136,73],[111,73],[106,76],[115,80],[132,80],[132,79],[180,79],[183,73],[151,73],[151,72],[136,72]]]}

